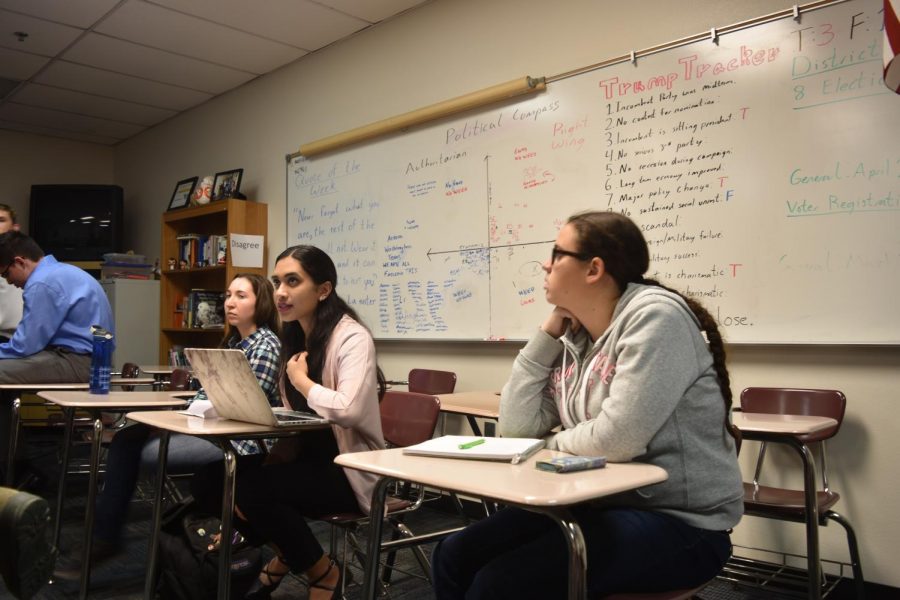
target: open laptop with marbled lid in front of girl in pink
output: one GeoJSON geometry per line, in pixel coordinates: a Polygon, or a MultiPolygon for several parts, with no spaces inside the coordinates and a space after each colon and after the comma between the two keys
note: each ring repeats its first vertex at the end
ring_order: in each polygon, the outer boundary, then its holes
{"type": "Polygon", "coordinates": [[[269,427],[328,424],[328,419],[315,413],[273,409],[240,350],[185,348],[184,353],[194,377],[223,419],[269,427]]]}

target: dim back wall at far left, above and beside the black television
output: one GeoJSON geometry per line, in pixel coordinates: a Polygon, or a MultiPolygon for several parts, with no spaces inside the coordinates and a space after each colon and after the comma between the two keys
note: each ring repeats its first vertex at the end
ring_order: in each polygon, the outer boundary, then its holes
{"type": "Polygon", "coordinates": [[[15,209],[27,231],[33,184],[116,183],[113,154],[107,146],[0,129],[0,203],[15,209]]]}

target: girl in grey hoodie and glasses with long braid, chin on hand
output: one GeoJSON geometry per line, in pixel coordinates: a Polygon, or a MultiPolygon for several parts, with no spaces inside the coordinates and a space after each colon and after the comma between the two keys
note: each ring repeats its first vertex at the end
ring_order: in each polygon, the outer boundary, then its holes
{"type": "MultiPolygon", "coordinates": [[[[545,437],[553,450],[669,475],[573,508],[592,598],[711,579],[743,512],[722,338],[702,306],[644,277],[649,262],[627,217],[571,217],[543,265],[553,309],[500,401],[504,436],[545,437]]],[[[562,531],[515,508],[447,538],[432,563],[438,599],[559,598],[567,589],[562,531]]]]}

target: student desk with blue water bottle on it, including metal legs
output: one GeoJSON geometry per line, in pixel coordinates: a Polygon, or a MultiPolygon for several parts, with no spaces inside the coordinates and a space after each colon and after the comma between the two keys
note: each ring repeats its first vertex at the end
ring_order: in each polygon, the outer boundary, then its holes
{"type": "MultiPolygon", "coordinates": [[[[182,394],[183,395],[183,394],[182,394]]],[[[100,413],[124,411],[133,408],[163,409],[181,406],[184,400],[176,398],[170,392],[121,392],[111,391],[109,394],[91,394],[86,390],[48,390],[46,386],[38,392],[38,396],[63,409],[66,432],[63,440],[62,464],[59,472],[59,489],[56,498],[56,524],[53,532],[53,546],[59,547],[59,532],[62,524],[62,505],[65,498],[66,471],[69,466],[69,447],[72,442],[75,411],[87,411],[93,420],[93,438],[91,439],[90,483],[88,485],[87,507],[84,517],[84,547],[82,555],[81,591],[79,598],[87,597],[88,584],[91,577],[91,541],[94,529],[94,502],[97,498],[97,471],[100,466],[100,440],[103,433],[103,422],[100,413]]]]}

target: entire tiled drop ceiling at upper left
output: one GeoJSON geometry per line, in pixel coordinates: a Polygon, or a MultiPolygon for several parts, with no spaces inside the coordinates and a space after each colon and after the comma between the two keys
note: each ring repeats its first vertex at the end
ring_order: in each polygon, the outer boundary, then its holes
{"type": "Polygon", "coordinates": [[[427,1],[0,0],[0,129],[113,145],[427,1]]]}

